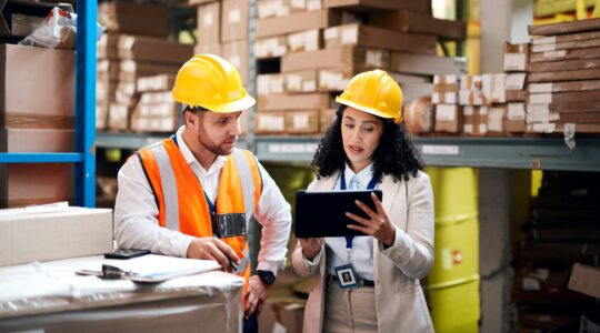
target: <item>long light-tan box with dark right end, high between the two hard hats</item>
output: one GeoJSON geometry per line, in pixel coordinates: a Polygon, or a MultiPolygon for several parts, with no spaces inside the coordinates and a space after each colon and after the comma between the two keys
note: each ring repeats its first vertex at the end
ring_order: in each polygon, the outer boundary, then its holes
{"type": "Polygon", "coordinates": [[[307,11],[287,17],[258,20],[257,38],[281,36],[311,29],[323,29],[337,26],[340,21],[341,16],[330,10],[307,11]]]}

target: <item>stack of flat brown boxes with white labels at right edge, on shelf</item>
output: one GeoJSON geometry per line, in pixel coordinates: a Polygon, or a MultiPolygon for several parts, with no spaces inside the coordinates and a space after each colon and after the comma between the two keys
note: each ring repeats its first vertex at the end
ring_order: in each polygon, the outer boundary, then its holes
{"type": "Polygon", "coordinates": [[[600,133],[600,19],[531,26],[528,130],[600,133]]]}

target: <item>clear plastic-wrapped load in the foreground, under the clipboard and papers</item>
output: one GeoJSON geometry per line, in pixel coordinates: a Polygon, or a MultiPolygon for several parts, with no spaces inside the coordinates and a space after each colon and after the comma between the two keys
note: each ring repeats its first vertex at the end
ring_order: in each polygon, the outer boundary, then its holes
{"type": "Polygon", "coordinates": [[[243,279],[220,271],[136,284],[76,275],[101,256],[0,269],[0,332],[238,332],[243,279]]]}

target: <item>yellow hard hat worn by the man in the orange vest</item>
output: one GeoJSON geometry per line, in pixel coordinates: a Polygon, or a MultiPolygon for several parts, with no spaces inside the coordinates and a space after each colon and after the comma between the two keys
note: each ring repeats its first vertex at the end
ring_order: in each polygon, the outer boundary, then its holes
{"type": "Polygon", "coordinates": [[[214,54],[188,60],[177,73],[171,97],[179,103],[218,113],[242,111],[256,104],[243,89],[238,70],[214,54]]]}

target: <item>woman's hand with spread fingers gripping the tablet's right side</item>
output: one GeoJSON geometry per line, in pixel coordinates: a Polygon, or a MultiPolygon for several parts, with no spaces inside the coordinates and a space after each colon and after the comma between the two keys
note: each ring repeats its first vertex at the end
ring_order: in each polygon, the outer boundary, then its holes
{"type": "Polygon", "coordinates": [[[357,205],[364,213],[367,213],[370,219],[363,219],[350,212],[346,212],[346,215],[348,218],[360,223],[360,225],[348,224],[347,226],[348,229],[358,230],[366,234],[372,235],[373,238],[382,241],[383,244],[391,246],[393,245],[393,241],[396,240],[396,228],[393,226],[393,224],[391,224],[390,219],[388,219],[388,214],[386,214],[386,211],[383,210],[383,205],[381,204],[381,201],[379,201],[379,198],[377,198],[374,193],[371,193],[371,199],[376,204],[377,212],[373,212],[364,203],[357,200],[357,205]]]}

